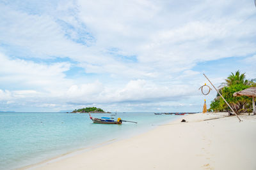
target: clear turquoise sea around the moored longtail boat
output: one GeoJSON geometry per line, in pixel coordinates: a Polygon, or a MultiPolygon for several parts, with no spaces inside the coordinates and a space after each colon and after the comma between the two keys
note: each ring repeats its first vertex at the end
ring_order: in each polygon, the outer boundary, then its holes
{"type": "Polygon", "coordinates": [[[177,118],[154,113],[117,113],[117,117],[138,124],[92,124],[89,115],[81,113],[0,113],[0,169],[28,166],[79,148],[145,132],[177,118]]]}

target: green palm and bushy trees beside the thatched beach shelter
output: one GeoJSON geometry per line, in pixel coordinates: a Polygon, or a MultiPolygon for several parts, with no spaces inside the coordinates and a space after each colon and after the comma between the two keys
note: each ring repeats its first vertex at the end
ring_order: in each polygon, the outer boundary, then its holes
{"type": "MultiPolygon", "coordinates": [[[[234,97],[233,94],[234,92],[254,86],[254,81],[255,80],[246,80],[245,73],[240,74],[239,71],[236,71],[235,74],[231,73],[230,76],[228,76],[225,83],[221,84],[222,87],[219,89],[219,92],[237,113],[252,112],[252,99],[250,97],[234,97]]],[[[219,94],[217,94],[215,99],[211,102],[210,106],[208,111],[230,111],[230,108],[228,108],[219,94]]]]}

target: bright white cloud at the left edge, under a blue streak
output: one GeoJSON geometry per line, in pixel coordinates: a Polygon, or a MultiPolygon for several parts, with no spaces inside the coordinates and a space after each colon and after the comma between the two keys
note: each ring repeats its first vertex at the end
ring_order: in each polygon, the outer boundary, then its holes
{"type": "MultiPolygon", "coordinates": [[[[65,79],[64,71],[68,71],[70,64],[60,62],[55,64],[36,64],[22,59],[9,59],[0,53],[0,81],[6,87],[33,88],[41,91],[61,90],[71,84],[65,79]]],[[[34,91],[17,91],[31,94],[34,91]]]]}

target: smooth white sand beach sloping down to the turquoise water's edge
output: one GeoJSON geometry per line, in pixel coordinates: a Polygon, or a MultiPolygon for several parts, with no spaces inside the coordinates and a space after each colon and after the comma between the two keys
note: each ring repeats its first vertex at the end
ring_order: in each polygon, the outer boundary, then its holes
{"type": "Polygon", "coordinates": [[[180,123],[180,118],[179,122],[32,169],[255,170],[256,116],[240,117],[243,122],[221,113],[188,115],[182,117],[188,122],[180,123]],[[218,119],[205,120],[209,118],[218,119]]]}

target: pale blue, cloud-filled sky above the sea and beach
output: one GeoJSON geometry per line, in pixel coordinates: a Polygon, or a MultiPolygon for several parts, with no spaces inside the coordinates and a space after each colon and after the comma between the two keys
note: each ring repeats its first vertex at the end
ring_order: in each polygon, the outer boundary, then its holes
{"type": "Polygon", "coordinates": [[[0,110],[202,111],[256,78],[253,0],[0,0],[0,110]],[[212,88],[213,89],[213,88],[212,88]],[[207,89],[205,89],[207,90],[207,89]]]}

